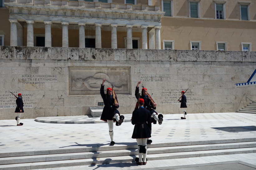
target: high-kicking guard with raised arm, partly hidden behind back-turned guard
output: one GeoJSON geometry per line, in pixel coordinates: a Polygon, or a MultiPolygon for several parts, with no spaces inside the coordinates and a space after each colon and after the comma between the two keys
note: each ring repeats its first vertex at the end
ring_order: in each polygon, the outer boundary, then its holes
{"type": "MultiPolygon", "coordinates": [[[[151,122],[153,124],[158,124],[161,125],[162,122],[163,122],[163,115],[162,114],[158,114],[155,109],[157,107],[157,103],[155,103],[152,99],[152,97],[147,93],[147,89],[146,88],[142,88],[142,95],[138,95],[139,93],[139,85],[141,84],[141,81],[138,81],[137,83],[137,86],[136,86],[136,90],[135,90],[135,96],[136,98],[138,99],[138,96],[139,98],[141,99],[144,99],[144,108],[146,108],[147,110],[150,111],[151,113],[151,122]]],[[[152,143],[152,140],[148,139],[147,140],[147,144],[151,144],[152,143]]]]}

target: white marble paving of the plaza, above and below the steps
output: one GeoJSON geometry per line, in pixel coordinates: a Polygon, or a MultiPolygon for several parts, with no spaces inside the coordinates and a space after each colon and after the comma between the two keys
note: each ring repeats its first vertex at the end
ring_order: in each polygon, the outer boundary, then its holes
{"type": "MultiPolygon", "coordinates": [[[[256,117],[254,114],[197,113],[188,114],[186,120],[181,120],[181,116],[181,114],[167,114],[164,115],[162,125],[153,125],[152,144],[256,138],[256,117]]],[[[99,117],[39,117],[37,119],[55,121],[56,118],[64,122],[82,120],[83,123],[43,123],[36,122],[35,119],[21,119],[24,125],[16,126],[15,120],[1,120],[0,135],[2,138],[0,140],[0,154],[51,149],[74,149],[92,147],[99,144],[108,146],[110,143],[108,126],[103,121],[100,121],[99,117]]],[[[131,138],[133,125],[129,121],[130,118],[131,115],[127,115],[125,117],[126,122],[121,126],[114,126],[115,146],[136,145],[136,140],[131,138]]],[[[249,165],[251,168],[256,168],[256,153],[152,160],[148,161],[148,164],[144,166],[137,166],[134,162],[128,162],[49,169],[173,169],[199,165],[224,165],[227,163],[232,165],[239,163],[241,166],[248,167],[249,165]]]]}

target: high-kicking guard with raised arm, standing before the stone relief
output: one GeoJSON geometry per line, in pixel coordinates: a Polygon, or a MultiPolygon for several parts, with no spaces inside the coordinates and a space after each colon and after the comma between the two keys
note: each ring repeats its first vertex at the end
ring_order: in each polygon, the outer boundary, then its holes
{"type": "Polygon", "coordinates": [[[113,122],[116,122],[116,126],[120,126],[123,123],[124,116],[123,115],[120,116],[120,113],[117,110],[119,108],[119,104],[118,104],[117,97],[116,97],[115,93],[112,93],[112,92],[114,92],[114,90],[109,87],[109,88],[107,88],[107,94],[104,93],[104,82],[105,81],[106,81],[106,79],[103,79],[101,87],[100,87],[100,95],[104,102],[104,108],[103,108],[103,112],[101,114],[100,120],[108,122],[109,136],[111,139],[110,145],[113,146],[115,144],[113,122]]]}

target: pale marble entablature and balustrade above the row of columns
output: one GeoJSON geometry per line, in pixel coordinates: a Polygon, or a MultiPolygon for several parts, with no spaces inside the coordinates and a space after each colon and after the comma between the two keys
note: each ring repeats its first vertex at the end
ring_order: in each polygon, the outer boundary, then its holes
{"type": "Polygon", "coordinates": [[[5,2],[5,7],[9,10],[9,18],[18,21],[51,20],[53,23],[67,21],[70,24],[99,22],[106,25],[120,23],[118,26],[136,22],[138,25],[161,25],[165,13],[160,11],[160,6],[67,0],[11,0],[5,2]]]}

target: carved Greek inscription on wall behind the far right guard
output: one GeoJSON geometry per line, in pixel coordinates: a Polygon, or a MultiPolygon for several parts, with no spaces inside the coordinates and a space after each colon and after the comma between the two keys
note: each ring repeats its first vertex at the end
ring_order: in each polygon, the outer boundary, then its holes
{"type": "MultiPolygon", "coordinates": [[[[181,97],[181,91],[186,89],[164,89],[162,91],[162,104],[175,104],[180,103],[178,99],[181,97]]],[[[193,103],[193,101],[203,101],[202,98],[197,98],[191,89],[188,89],[185,93],[187,103],[193,103]]]]}

